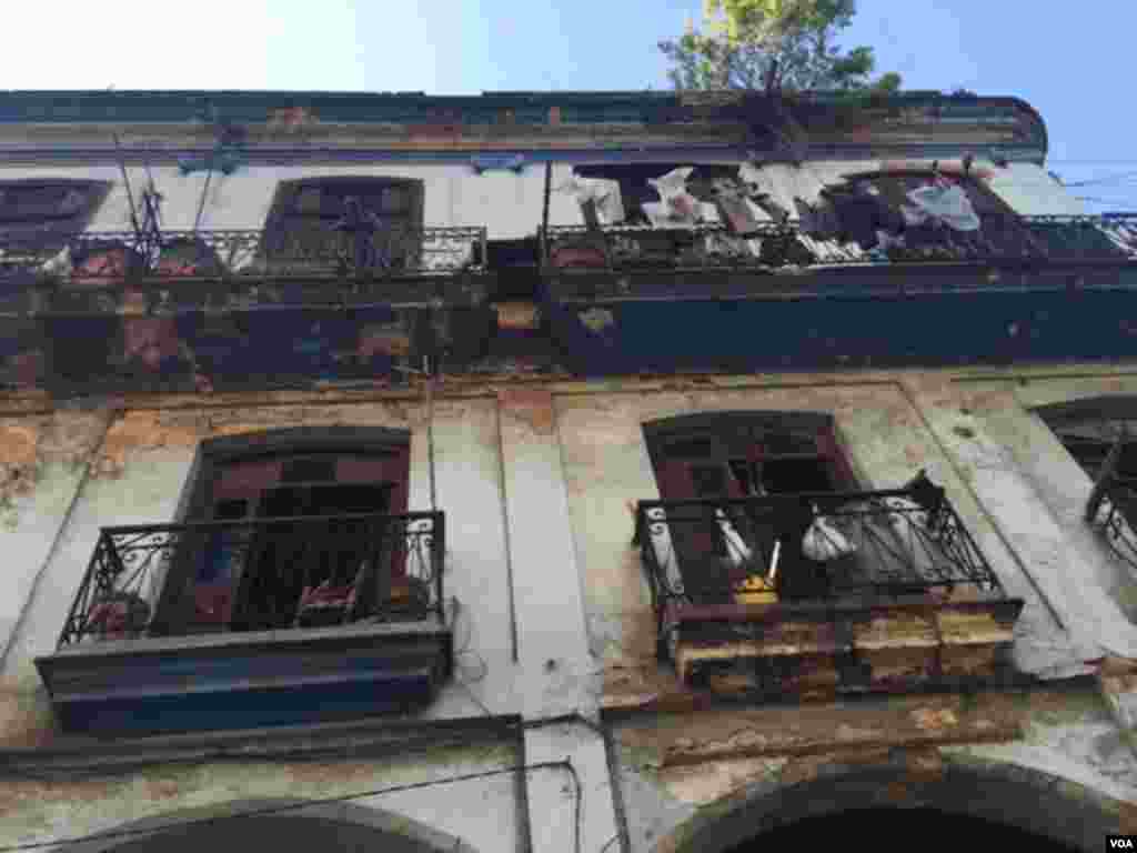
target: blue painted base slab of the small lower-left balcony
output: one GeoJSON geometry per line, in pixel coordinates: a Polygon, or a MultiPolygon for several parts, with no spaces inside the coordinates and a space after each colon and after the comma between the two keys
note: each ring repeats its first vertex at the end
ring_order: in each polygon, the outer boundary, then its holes
{"type": "Polygon", "coordinates": [[[450,669],[440,620],[83,644],[36,660],[65,731],[260,728],[412,710],[450,669]]]}

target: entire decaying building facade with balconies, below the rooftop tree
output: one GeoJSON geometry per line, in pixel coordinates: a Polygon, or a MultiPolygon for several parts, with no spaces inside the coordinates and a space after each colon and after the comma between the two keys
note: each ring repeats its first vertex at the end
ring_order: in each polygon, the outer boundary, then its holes
{"type": "Polygon", "coordinates": [[[1046,148],[935,92],[0,93],[0,842],[1137,833],[1137,221],[1046,148]]]}

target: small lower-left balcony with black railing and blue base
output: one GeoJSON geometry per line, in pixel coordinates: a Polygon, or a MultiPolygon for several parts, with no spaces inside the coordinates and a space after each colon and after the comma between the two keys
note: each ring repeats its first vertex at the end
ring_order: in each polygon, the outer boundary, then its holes
{"type": "Polygon", "coordinates": [[[36,666],[96,734],[413,709],[450,669],[443,554],[440,512],[105,528],[36,666]]]}

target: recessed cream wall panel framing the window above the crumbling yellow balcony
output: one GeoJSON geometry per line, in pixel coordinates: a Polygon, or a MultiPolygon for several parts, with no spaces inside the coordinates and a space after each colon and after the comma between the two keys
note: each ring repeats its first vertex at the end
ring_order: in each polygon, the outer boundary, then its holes
{"type": "MultiPolygon", "coordinates": [[[[557,398],[570,512],[594,652],[609,670],[652,666],[655,624],[639,555],[631,545],[629,504],[658,497],[641,424],[677,414],[715,411],[812,411],[832,414],[860,481],[896,488],[921,467],[948,498],[1010,595],[1027,605],[1016,627],[1016,662],[1029,672],[1081,670],[1045,598],[1031,583],[956,464],[931,434],[908,389],[896,381],[819,381],[785,386],[771,378],[746,389],[686,392],[563,395],[557,398]]],[[[1014,512],[1013,507],[1010,512],[1014,512]]],[[[1060,579],[1053,579],[1054,587],[1060,579]]],[[[1059,595],[1056,588],[1048,590],[1059,595]]]]}

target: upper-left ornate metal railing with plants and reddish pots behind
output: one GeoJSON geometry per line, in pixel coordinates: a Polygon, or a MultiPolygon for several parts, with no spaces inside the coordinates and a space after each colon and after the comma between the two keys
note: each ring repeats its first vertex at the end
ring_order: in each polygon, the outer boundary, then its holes
{"type": "Polygon", "coordinates": [[[485,229],[334,229],[279,232],[163,231],[28,235],[0,232],[0,274],[39,274],[92,284],[127,280],[375,276],[479,270],[485,229]]]}

